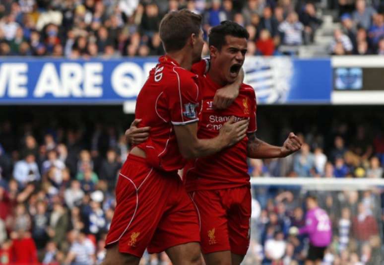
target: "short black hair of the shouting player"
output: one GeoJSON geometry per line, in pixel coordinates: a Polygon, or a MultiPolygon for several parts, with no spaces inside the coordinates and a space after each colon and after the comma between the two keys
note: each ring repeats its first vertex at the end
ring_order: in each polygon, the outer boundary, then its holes
{"type": "Polygon", "coordinates": [[[246,38],[247,40],[250,37],[250,34],[244,27],[236,22],[225,20],[220,25],[211,28],[209,32],[209,46],[212,45],[221,50],[221,47],[225,45],[225,36],[227,35],[246,38]]]}

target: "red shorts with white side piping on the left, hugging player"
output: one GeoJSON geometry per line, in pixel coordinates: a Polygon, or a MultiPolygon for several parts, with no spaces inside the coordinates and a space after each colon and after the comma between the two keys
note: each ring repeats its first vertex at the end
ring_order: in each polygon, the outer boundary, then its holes
{"type": "Polygon", "coordinates": [[[160,172],[129,155],[116,186],[116,209],[106,247],[141,257],[200,242],[196,208],[177,173],[160,172]]]}

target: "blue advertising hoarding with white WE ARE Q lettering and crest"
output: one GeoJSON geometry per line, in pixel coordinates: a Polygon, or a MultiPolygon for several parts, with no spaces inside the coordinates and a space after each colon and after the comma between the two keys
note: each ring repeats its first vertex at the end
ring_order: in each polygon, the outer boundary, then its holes
{"type": "MultiPolygon", "coordinates": [[[[135,101],[157,58],[0,58],[0,104],[122,104],[135,101]]],[[[258,103],[329,103],[330,59],[248,57],[245,82],[258,103]]]]}

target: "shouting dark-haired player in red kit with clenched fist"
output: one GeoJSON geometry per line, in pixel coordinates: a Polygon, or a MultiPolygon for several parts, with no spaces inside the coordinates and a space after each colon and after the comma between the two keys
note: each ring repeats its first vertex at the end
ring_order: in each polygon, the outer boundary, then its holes
{"type": "MultiPolygon", "coordinates": [[[[256,137],[256,97],[249,85],[241,85],[239,96],[229,108],[213,108],[215,91],[233,82],[243,66],[248,38],[247,30],[235,22],[225,21],[213,27],[209,34],[210,69],[200,76],[203,103],[199,138],[217,136],[232,116],[250,121],[248,137],[217,154],[191,160],[184,169],[186,188],[199,215],[201,249],[207,265],[239,265],[247,253],[252,199],[247,155],[285,157],[301,147],[294,133],[283,146],[273,146],[256,137]]],[[[133,131],[128,132],[130,138],[133,131]]]]}

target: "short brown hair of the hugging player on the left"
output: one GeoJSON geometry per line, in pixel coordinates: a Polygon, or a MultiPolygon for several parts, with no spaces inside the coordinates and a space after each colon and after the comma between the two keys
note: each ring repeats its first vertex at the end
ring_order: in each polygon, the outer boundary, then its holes
{"type": "Polygon", "coordinates": [[[201,15],[188,9],[166,14],[160,22],[160,39],[166,52],[179,51],[187,43],[192,33],[200,33],[201,15]]]}

